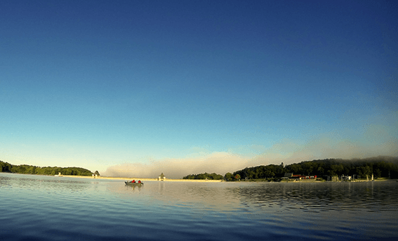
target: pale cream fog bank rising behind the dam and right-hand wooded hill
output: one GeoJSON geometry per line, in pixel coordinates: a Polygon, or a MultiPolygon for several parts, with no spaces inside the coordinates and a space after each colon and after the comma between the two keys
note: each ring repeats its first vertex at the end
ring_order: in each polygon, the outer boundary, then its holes
{"type": "MultiPolygon", "coordinates": [[[[256,167],[267,164],[292,164],[312,161],[313,159],[352,159],[375,157],[378,155],[398,156],[398,141],[393,133],[380,126],[372,126],[364,133],[366,138],[351,141],[339,133],[324,133],[304,144],[295,140],[284,139],[274,143],[270,148],[250,145],[252,153],[237,155],[231,152],[213,152],[199,157],[179,159],[159,159],[149,164],[124,163],[108,167],[102,176],[157,178],[164,173],[168,178],[183,178],[189,174],[216,173],[225,175],[245,167],[256,167]]],[[[249,151],[250,153],[250,151],[249,151]]]]}

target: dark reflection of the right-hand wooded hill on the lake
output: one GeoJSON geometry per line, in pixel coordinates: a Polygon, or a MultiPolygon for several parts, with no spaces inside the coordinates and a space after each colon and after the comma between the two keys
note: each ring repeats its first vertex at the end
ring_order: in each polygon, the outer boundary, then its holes
{"type": "Polygon", "coordinates": [[[398,207],[396,182],[366,183],[265,183],[233,190],[241,200],[258,206],[274,205],[308,211],[398,207]]]}

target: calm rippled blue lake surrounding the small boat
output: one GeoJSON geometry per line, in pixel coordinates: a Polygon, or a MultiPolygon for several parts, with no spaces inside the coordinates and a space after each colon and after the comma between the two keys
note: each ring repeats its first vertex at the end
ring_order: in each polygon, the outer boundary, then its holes
{"type": "Polygon", "coordinates": [[[397,188],[0,173],[0,240],[394,240],[397,188]]]}

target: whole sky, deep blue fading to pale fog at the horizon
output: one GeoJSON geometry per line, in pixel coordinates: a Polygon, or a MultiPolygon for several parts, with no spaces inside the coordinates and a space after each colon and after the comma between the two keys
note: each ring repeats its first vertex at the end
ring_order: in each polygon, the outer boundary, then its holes
{"type": "Polygon", "coordinates": [[[397,156],[397,10],[2,1],[0,160],[179,178],[397,156]]]}

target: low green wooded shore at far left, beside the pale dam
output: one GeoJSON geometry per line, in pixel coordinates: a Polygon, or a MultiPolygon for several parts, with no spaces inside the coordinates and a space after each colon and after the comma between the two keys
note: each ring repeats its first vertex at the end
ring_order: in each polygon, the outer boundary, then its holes
{"type": "Polygon", "coordinates": [[[0,161],[0,171],[17,174],[37,174],[37,175],[74,175],[92,176],[93,173],[81,167],[36,167],[30,165],[13,165],[8,162],[0,161]]]}

